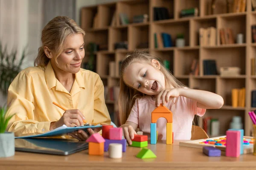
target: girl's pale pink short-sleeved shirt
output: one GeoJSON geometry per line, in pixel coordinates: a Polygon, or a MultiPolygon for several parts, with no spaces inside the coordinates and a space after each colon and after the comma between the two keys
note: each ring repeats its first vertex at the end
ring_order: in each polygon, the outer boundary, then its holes
{"type": "MultiPolygon", "coordinates": [[[[174,140],[190,140],[194,116],[204,116],[206,109],[198,108],[197,101],[183,96],[174,98],[165,106],[173,114],[174,140]]],[[[150,96],[137,99],[127,121],[136,123],[143,135],[150,137],[151,112],[155,108],[155,101],[150,96]]],[[[157,120],[158,139],[166,140],[166,122],[163,117],[157,120]]]]}

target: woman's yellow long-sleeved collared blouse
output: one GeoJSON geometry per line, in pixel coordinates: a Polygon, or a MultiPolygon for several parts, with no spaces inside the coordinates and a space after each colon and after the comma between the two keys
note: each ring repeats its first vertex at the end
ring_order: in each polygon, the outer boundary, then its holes
{"type": "Polygon", "coordinates": [[[21,71],[8,90],[7,115],[15,116],[7,130],[15,136],[27,136],[49,131],[50,123],[58,121],[63,108],[79,109],[88,123],[110,124],[104,99],[104,85],[99,75],[80,69],[70,93],[55,78],[50,62],[46,67],[29,67],[21,71]]]}

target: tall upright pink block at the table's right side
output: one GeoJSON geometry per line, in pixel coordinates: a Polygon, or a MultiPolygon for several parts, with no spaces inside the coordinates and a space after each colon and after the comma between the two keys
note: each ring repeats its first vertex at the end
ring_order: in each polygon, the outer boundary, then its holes
{"type": "Polygon", "coordinates": [[[227,130],[226,156],[239,157],[240,155],[240,131],[227,130]]]}

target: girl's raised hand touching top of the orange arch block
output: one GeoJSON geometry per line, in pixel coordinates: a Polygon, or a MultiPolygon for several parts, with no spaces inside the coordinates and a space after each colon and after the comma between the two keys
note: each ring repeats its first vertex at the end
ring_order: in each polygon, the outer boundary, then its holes
{"type": "Polygon", "coordinates": [[[162,100],[162,104],[165,105],[169,101],[171,101],[174,97],[180,96],[179,88],[170,88],[160,91],[157,95],[156,99],[156,107],[160,106],[160,100],[162,100]]]}

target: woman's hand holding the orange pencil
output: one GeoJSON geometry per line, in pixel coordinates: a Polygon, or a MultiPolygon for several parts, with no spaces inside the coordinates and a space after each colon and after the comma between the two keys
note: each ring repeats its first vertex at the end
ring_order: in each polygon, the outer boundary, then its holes
{"type": "Polygon", "coordinates": [[[67,127],[80,126],[84,124],[84,119],[84,115],[78,109],[67,110],[58,121],[51,123],[50,130],[61,127],[62,125],[66,125],[67,127]]]}

